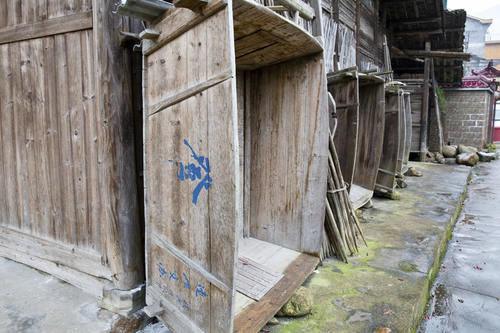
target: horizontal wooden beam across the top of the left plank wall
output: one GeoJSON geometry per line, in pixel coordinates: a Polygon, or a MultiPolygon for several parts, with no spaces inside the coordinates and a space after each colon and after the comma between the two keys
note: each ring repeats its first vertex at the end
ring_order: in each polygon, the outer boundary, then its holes
{"type": "Polygon", "coordinates": [[[91,11],[0,29],[0,45],[86,29],[92,29],[91,11]]]}

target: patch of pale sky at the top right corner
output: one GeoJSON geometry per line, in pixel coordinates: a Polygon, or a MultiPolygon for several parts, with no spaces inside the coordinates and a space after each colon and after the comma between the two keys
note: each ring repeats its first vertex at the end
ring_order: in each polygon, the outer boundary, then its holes
{"type": "Polygon", "coordinates": [[[493,19],[490,25],[490,40],[500,40],[500,0],[448,0],[448,9],[465,9],[468,15],[482,19],[493,19]]]}

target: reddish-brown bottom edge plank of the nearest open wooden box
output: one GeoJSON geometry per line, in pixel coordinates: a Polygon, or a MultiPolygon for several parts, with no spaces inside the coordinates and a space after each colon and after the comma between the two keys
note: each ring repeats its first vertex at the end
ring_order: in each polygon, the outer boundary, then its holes
{"type": "Polygon", "coordinates": [[[259,332],[295,290],[314,271],[317,257],[301,254],[284,272],[283,278],[259,302],[250,304],[234,319],[234,332],[259,332]]]}

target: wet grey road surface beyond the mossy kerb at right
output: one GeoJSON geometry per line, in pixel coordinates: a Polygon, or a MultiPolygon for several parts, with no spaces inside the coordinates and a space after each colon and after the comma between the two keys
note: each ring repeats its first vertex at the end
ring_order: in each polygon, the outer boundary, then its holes
{"type": "Polygon", "coordinates": [[[473,170],[418,332],[500,332],[500,160],[473,170]]]}

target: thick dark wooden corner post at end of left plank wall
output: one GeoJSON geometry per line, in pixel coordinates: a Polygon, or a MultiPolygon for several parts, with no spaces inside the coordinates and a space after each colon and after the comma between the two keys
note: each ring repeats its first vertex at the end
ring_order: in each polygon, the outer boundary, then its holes
{"type": "Polygon", "coordinates": [[[113,1],[93,0],[96,108],[99,122],[99,175],[105,260],[117,289],[144,281],[138,211],[130,55],[119,46],[130,19],[113,14],[113,1]]]}

